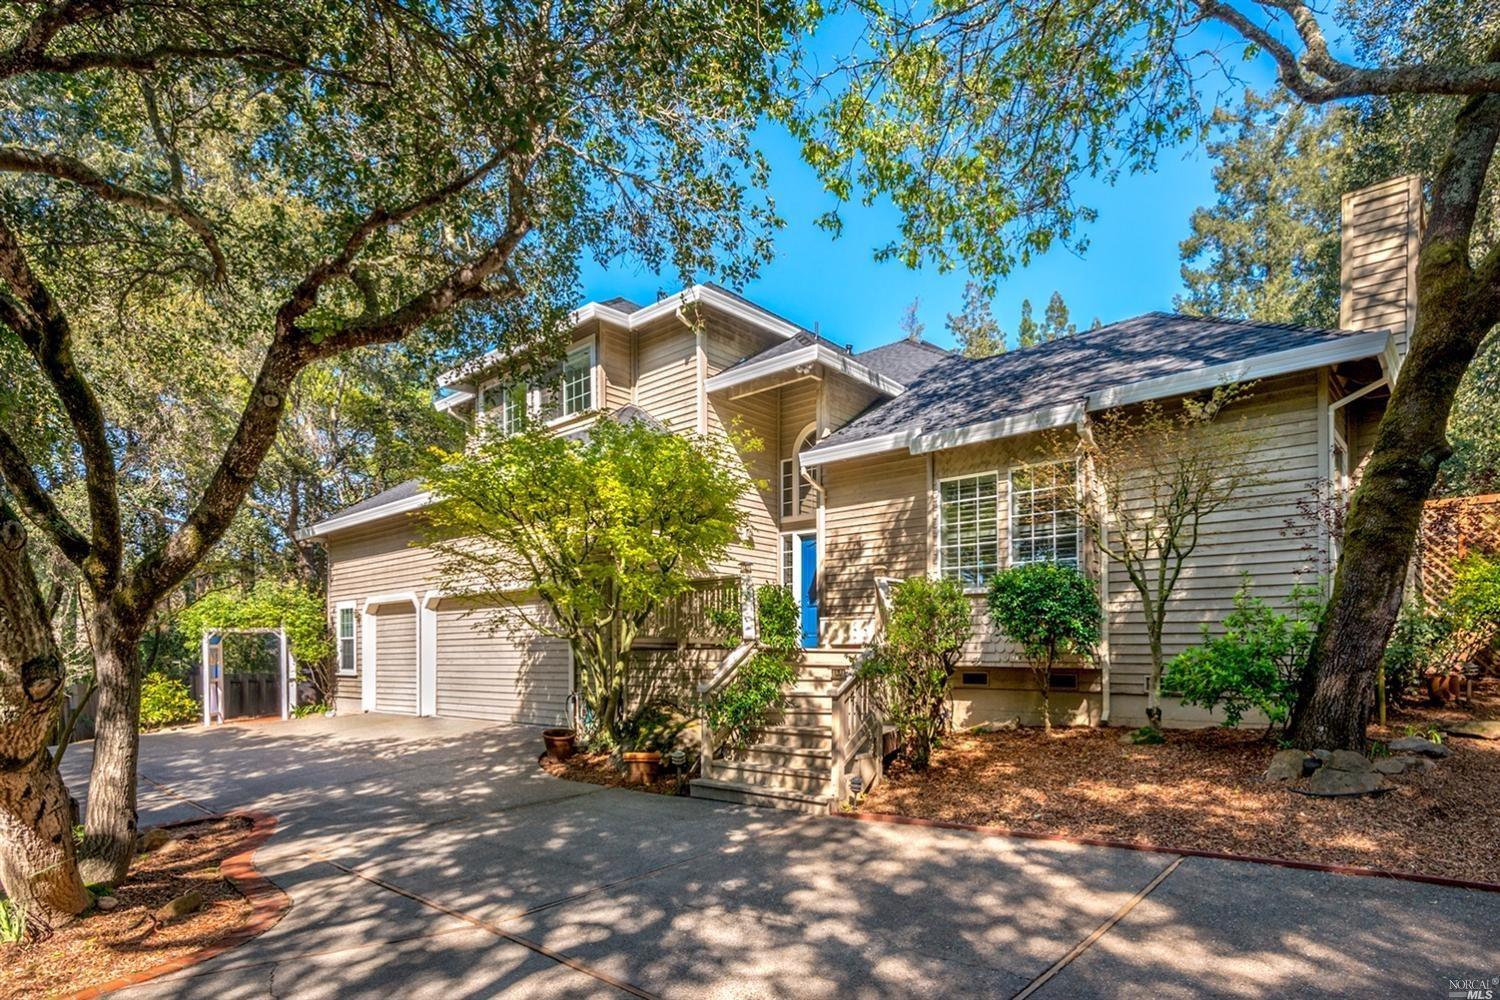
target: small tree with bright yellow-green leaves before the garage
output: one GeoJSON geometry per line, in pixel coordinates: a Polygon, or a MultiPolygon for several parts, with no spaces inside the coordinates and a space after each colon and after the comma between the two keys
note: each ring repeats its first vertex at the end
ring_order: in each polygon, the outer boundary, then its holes
{"type": "Polygon", "coordinates": [[[604,417],[578,436],[531,427],[438,459],[429,537],[442,589],[494,606],[495,627],[567,639],[594,724],[618,739],[636,636],[742,531],[730,444],[604,417]]]}

